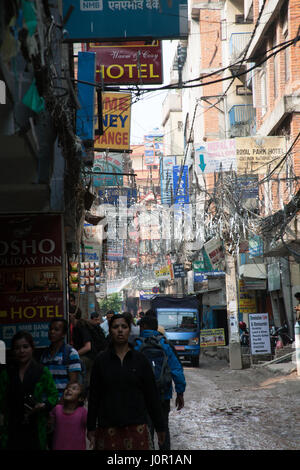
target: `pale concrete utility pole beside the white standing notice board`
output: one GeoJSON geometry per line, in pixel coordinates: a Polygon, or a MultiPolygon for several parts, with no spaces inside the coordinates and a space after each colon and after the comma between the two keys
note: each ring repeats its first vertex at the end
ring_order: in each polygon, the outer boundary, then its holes
{"type": "Polygon", "coordinates": [[[229,362],[231,369],[243,368],[238,322],[238,289],[236,264],[231,253],[225,248],[225,283],[227,299],[227,320],[229,329],[229,362]]]}

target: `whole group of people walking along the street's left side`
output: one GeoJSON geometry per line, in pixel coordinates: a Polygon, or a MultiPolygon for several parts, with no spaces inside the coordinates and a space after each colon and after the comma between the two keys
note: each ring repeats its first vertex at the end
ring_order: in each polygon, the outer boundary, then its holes
{"type": "Polygon", "coordinates": [[[100,324],[96,312],[82,319],[72,301],[69,322],[50,322],[39,359],[30,333],[12,339],[12,360],[0,371],[0,448],[151,450],[156,432],[159,449],[169,450],[172,382],[178,410],[186,383],[155,312],[136,325],[131,313],[109,311],[100,324]],[[162,392],[148,343],[157,358],[165,356],[162,392]]]}

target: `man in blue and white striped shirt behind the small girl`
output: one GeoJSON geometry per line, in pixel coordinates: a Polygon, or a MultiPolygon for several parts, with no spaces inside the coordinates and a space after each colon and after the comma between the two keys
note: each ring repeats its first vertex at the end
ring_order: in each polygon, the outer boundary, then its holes
{"type": "Polygon", "coordinates": [[[76,349],[65,342],[68,323],[64,318],[52,319],[48,338],[50,346],[42,353],[40,362],[50,370],[59,399],[69,382],[77,382],[81,372],[80,357],[76,349]]]}

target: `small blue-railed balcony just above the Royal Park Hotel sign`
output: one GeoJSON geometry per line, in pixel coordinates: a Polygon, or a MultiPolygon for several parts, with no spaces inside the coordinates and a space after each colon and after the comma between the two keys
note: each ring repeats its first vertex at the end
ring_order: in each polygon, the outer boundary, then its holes
{"type": "Polygon", "coordinates": [[[252,104],[237,104],[228,113],[232,137],[254,135],[256,131],[255,108],[252,104]]]}

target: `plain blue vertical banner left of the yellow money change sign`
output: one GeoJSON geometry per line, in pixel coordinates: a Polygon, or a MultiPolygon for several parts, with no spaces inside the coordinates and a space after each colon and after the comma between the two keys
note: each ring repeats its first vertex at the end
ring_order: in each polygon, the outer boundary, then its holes
{"type": "Polygon", "coordinates": [[[94,52],[78,52],[78,100],[80,109],[76,112],[76,135],[82,141],[94,140],[95,87],[86,83],[94,83],[96,74],[96,54],[94,52]]]}

